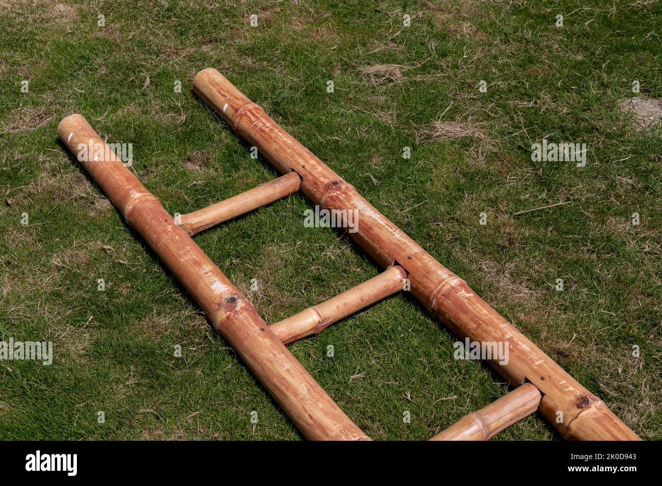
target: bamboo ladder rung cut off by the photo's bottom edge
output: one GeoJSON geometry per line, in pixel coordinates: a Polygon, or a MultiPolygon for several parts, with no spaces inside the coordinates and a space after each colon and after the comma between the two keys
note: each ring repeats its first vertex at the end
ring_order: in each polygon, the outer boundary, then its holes
{"type": "Polygon", "coordinates": [[[541,397],[538,388],[525,383],[487,407],[465,415],[430,440],[490,440],[538,410],[541,397]]]}

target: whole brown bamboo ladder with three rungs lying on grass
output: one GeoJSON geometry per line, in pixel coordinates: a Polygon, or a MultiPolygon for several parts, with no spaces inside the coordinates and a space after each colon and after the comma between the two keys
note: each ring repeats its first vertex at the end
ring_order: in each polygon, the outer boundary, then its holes
{"type": "MultiPolygon", "coordinates": [[[[563,438],[639,440],[602,400],[387,220],[218,71],[200,71],[193,80],[193,90],[234,132],[258,147],[283,176],[176,221],[112,151],[103,150],[100,157],[87,157],[81,164],[306,438],[369,440],[285,344],[319,333],[339,319],[400,292],[408,281],[413,296],[459,337],[477,342],[507,342],[508,364],[495,360],[488,364],[515,388],[487,407],[466,415],[432,440],[487,440],[534,411],[540,411],[563,438]],[[357,210],[357,231],[348,234],[385,270],[326,302],[267,325],[191,237],[299,190],[320,208],[357,210]]],[[[60,122],[58,136],[73,153],[77,153],[76,147],[81,143],[106,147],[79,114],[71,114],[60,122]]]]}

